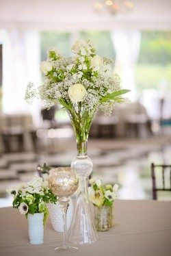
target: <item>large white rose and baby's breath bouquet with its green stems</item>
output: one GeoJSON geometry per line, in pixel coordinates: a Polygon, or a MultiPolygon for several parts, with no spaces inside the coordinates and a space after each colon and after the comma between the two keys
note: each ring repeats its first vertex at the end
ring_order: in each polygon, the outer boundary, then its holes
{"type": "Polygon", "coordinates": [[[116,103],[124,103],[120,78],[111,68],[111,60],[96,54],[90,40],[78,40],[72,47],[74,55],[63,57],[57,49],[49,49],[47,60],[40,71],[44,73],[44,84],[35,88],[29,83],[25,94],[27,102],[39,97],[44,107],[60,104],[67,110],[75,131],[78,152],[88,140],[90,125],[96,110],[110,115],[116,103]]]}

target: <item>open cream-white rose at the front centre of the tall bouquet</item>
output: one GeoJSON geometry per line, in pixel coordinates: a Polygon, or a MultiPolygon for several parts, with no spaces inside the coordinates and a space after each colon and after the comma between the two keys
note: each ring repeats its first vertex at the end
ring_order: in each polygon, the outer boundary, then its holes
{"type": "Polygon", "coordinates": [[[87,94],[86,88],[82,84],[74,84],[68,89],[68,96],[70,100],[75,102],[83,101],[87,94]]]}

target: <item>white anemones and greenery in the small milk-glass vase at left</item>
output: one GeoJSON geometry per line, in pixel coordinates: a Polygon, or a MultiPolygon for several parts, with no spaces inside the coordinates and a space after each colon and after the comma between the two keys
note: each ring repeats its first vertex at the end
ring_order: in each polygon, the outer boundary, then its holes
{"type": "Polygon", "coordinates": [[[48,181],[43,181],[40,177],[34,177],[31,181],[6,191],[14,197],[12,206],[26,217],[28,214],[44,212],[44,224],[49,216],[47,203],[57,202],[57,196],[49,189],[48,181]]]}

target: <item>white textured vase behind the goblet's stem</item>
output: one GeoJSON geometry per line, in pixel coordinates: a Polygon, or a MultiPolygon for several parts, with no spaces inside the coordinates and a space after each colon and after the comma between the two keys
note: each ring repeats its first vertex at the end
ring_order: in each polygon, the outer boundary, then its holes
{"type": "MultiPolygon", "coordinates": [[[[53,229],[57,232],[64,232],[64,222],[62,218],[62,209],[58,205],[58,202],[54,205],[53,203],[48,204],[49,208],[49,217],[51,220],[51,225],[53,229]]],[[[70,229],[72,220],[73,220],[74,206],[73,200],[70,199],[68,211],[66,214],[66,229],[70,229]]]]}

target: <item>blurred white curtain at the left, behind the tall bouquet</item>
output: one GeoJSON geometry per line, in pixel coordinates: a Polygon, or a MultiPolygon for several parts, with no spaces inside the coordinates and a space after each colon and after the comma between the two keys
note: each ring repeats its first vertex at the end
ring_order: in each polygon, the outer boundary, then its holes
{"type": "Polygon", "coordinates": [[[40,84],[40,42],[36,31],[0,30],[3,44],[3,112],[31,112],[25,102],[27,83],[40,84]]]}

